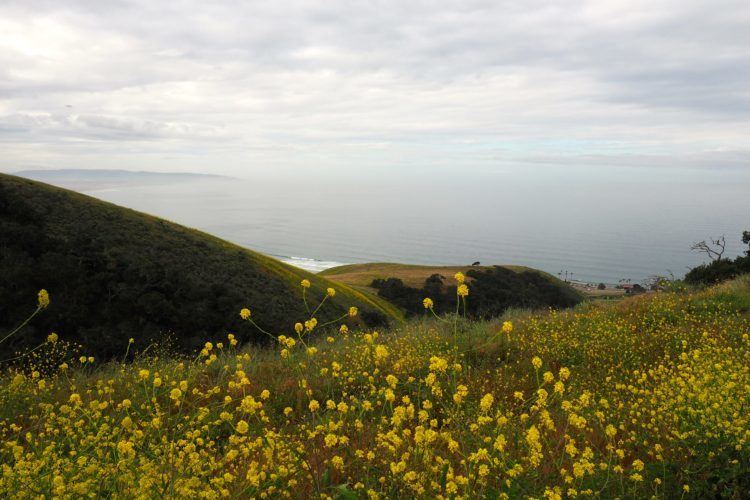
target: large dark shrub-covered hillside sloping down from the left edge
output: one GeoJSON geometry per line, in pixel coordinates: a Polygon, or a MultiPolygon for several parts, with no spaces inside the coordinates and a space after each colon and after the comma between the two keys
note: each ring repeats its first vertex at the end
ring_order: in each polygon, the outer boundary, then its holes
{"type": "MultiPolygon", "coordinates": [[[[380,325],[400,312],[378,297],[163,219],[88,196],[0,174],[0,332],[29,313],[36,292],[52,304],[16,348],[36,345],[50,331],[99,355],[121,353],[130,337],[142,342],[170,333],[190,349],[203,338],[240,328],[242,307],[262,310],[264,329],[289,332],[289,314],[303,316],[302,279],[311,303],[337,290],[321,322],[360,309],[359,321],[380,325]]],[[[5,358],[8,356],[2,356],[5,358]]]]}

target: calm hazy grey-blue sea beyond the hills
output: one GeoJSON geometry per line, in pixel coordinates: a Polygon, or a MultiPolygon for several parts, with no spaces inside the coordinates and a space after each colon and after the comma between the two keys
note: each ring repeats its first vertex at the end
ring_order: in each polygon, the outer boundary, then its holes
{"type": "Polygon", "coordinates": [[[320,270],[338,263],[520,264],[640,281],[703,261],[690,244],[750,229],[742,177],[484,174],[460,181],[211,180],[87,194],[320,270]]]}

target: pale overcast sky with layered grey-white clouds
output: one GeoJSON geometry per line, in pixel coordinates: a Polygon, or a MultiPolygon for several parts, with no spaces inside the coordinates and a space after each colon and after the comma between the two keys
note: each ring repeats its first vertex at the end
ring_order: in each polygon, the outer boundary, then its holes
{"type": "Polygon", "coordinates": [[[0,170],[750,169],[750,1],[0,0],[0,170]]]}

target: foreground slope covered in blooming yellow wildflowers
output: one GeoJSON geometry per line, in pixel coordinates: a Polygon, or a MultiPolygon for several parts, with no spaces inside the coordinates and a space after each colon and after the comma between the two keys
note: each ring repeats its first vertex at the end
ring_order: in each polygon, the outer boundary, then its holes
{"type": "MultiPolygon", "coordinates": [[[[424,305],[384,332],[318,325],[311,305],[266,347],[227,334],[194,357],[122,363],[73,358],[51,334],[0,378],[0,496],[750,490],[750,279],[495,322],[424,305]]],[[[255,306],[240,312],[248,328],[255,306]]]]}

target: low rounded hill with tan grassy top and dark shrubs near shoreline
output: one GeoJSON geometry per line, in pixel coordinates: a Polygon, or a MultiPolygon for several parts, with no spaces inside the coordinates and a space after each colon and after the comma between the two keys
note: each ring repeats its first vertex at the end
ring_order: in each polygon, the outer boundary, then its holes
{"type": "Polygon", "coordinates": [[[420,266],[394,263],[352,264],[320,273],[358,290],[371,292],[399,306],[406,314],[418,314],[424,297],[438,312],[455,311],[456,284],[461,272],[471,285],[467,313],[491,318],[508,308],[544,309],[570,307],[583,295],[554,276],[523,266],[420,266]]]}

